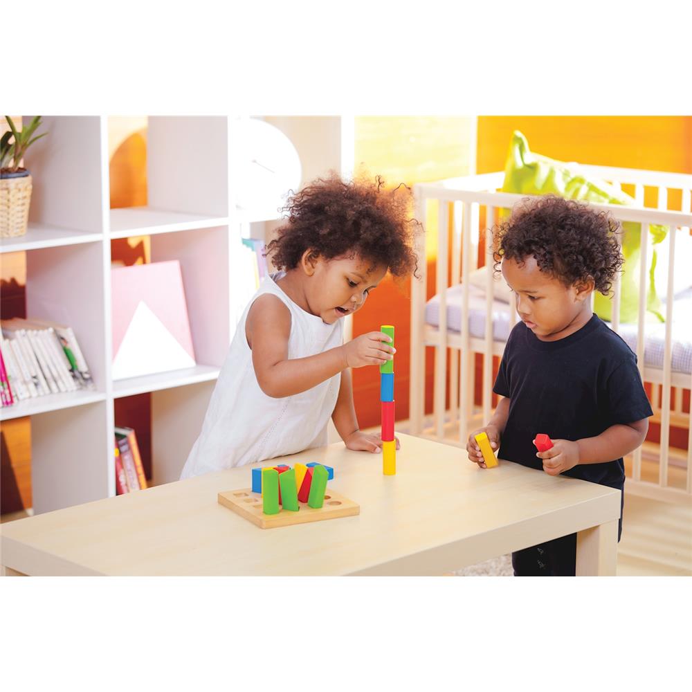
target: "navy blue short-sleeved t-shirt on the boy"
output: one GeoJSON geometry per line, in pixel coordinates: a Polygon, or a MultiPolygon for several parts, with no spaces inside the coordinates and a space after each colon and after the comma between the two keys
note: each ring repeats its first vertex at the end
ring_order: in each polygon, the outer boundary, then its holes
{"type": "MultiPolygon", "coordinates": [[[[509,397],[498,456],[543,468],[533,440],[596,437],[616,424],[653,415],[637,357],[596,315],[574,334],[541,341],[523,322],[512,329],[493,392],[509,397]]],[[[623,489],[622,457],[577,464],[564,475],[623,489]]]]}

